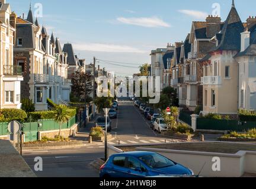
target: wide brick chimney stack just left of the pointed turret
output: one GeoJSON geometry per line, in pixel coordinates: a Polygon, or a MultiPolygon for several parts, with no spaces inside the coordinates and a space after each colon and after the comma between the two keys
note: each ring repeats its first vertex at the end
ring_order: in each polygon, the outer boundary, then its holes
{"type": "Polygon", "coordinates": [[[221,18],[209,15],[206,18],[206,37],[211,38],[220,31],[221,18]]]}

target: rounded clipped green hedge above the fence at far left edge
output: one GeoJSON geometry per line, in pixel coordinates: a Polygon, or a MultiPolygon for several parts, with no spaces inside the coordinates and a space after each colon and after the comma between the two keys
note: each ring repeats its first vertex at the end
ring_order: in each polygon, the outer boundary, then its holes
{"type": "Polygon", "coordinates": [[[20,109],[2,109],[0,112],[0,119],[2,119],[2,122],[11,122],[13,120],[24,122],[27,118],[27,113],[20,109]]]}

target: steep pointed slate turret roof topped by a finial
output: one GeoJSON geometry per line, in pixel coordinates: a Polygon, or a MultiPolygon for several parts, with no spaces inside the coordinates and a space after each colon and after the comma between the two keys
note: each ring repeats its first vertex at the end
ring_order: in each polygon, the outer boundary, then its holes
{"type": "Polygon", "coordinates": [[[220,31],[221,40],[219,45],[212,51],[216,50],[238,50],[241,49],[241,32],[244,32],[244,25],[236,11],[235,5],[232,4],[231,11],[226,19],[222,30],[220,31]]]}

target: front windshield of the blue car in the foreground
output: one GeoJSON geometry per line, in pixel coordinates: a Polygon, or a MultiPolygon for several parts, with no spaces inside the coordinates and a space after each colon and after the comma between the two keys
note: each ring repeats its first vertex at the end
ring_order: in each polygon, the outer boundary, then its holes
{"type": "Polygon", "coordinates": [[[143,157],[140,157],[139,159],[143,161],[146,165],[148,165],[148,167],[153,169],[171,167],[175,165],[174,162],[165,157],[162,157],[159,154],[145,155],[143,157]]]}

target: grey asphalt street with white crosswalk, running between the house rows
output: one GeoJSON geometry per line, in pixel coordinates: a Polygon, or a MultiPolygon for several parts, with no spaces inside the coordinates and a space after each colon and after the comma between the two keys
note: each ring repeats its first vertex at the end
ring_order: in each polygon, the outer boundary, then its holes
{"type": "MultiPolygon", "coordinates": [[[[119,115],[113,119],[111,133],[116,139],[108,142],[117,144],[158,144],[165,142],[153,132],[149,122],[129,100],[119,102],[119,115]]],[[[168,140],[167,140],[168,142],[168,140]]],[[[35,172],[38,177],[98,177],[89,163],[104,158],[104,143],[94,142],[78,148],[25,151],[25,161],[34,170],[34,158],[43,158],[43,171],[35,172]]]]}

